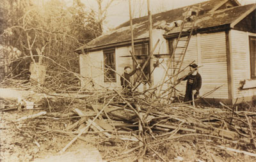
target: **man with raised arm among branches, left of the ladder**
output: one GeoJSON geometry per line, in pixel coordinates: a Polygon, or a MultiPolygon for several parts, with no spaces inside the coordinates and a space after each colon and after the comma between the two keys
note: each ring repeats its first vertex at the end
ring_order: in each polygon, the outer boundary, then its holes
{"type": "Polygon", "coordinates": [[[136,69],[133,70],[133,71],[131,71],[130,66],[125,66],[124,67],[124,74],[120,77],[121,85],[122,85],[123,89],[127,89],[127,90],[131,91],[132,87],[131,87],[130,77],[132,75],[134,75],[134,73],[136,73],[136,70],[138,70],[139,67],[140,67],[140,64],[138,64],[136,69]]]}

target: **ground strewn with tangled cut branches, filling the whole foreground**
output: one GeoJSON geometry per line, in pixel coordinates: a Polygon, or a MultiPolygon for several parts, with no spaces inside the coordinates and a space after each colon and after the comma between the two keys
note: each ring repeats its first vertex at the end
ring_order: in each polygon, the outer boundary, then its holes
{"type": "Polygon", "coordinates": [[[255,107],[170,104],[145,92],[127,96],[122,89],[30,94],[22,99],[33,108],[1,100],[1,161],[79,161],[91,151],[97,152],[95,161],[256,159],[255,107]]]}

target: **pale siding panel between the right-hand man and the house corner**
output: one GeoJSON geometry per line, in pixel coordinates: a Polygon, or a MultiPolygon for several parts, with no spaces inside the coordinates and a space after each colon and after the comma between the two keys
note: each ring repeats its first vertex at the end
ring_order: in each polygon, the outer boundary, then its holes
{"type": "Polygon", "coordinates": [[[200,34],[202,75],[201,96],[220,87],[207,98],[228,99],[227,50],[225,32],[200,34]]]}

